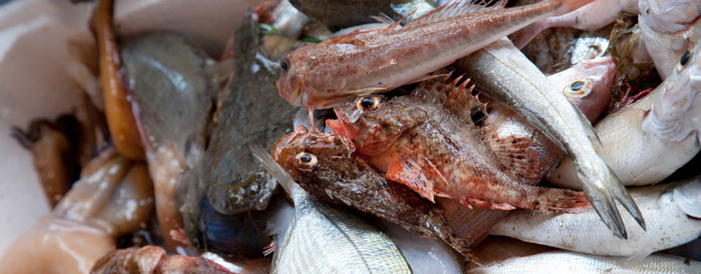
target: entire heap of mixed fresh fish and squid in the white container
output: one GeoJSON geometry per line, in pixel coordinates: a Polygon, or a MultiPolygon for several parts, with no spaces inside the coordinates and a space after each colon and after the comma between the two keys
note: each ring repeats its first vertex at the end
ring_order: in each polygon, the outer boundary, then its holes
{"type": "Polygon", "coordinates": [[[701,271],[698,1],[269,0],[221,54],[96,2],[2,269],[701,271]]]}

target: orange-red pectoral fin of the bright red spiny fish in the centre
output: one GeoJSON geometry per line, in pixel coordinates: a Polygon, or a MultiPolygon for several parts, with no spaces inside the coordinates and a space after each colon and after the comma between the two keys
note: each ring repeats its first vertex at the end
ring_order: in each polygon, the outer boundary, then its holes
{"type": "Polygon", "coordinates": [[[403,150],[397,153],[387,169],[385,177],[400,184],[405,184],[422,197],[434,202],[434,179],[445,178],[426,157],[420,153],[403,150]]]}

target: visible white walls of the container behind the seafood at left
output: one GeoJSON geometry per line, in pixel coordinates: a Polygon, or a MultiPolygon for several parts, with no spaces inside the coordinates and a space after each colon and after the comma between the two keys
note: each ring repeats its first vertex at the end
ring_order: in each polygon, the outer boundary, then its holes
{"type": "MultiPolygon", "coordinates": [[[[262,0],[117,0],[118,35],[174,30],[218,55],[248,7],[262,0]]],[[[0,6],[0,254],[48,213],[31,154],[13,125],[70,111],[80,91],[66,72],[69,39],[92,40],[91,3],[15,0],[0,6]]]]}

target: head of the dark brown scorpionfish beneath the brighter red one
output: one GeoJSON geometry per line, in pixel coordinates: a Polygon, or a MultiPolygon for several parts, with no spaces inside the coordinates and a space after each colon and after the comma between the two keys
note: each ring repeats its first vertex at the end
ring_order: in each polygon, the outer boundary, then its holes
{"type": "Polygon", "coordinates": [[[307,188],[360,176],[354,151],[355,146],[340,135],[309,132],[298,126],[276,143],[272,156],[298,184],[307,188]]]}

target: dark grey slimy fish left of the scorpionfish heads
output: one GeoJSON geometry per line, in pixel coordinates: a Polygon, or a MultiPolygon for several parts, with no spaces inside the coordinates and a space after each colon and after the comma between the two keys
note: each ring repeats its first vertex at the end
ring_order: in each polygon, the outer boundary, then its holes
{"type": "Polygon", "coordinates": [[[277,69],[269,71],[256,58],[260,38],[255,16],[246,13],[235,34],[235,77],[212,128],[204,156],[204,191],[217,211],[235,215],[266,208],[275,180],[251,157],[248,146],[272,145],[294,130],[297,111],[276,96],[277,69]],[[272,93],[271,93],[272,92],[272,93]]]}

